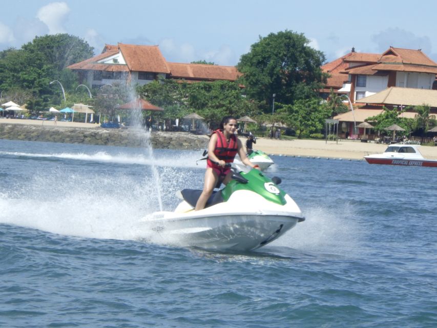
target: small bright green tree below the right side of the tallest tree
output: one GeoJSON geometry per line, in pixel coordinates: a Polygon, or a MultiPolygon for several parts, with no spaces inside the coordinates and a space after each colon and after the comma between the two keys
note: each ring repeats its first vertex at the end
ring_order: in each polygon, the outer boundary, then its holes
{"type": "Polygon", "coordinates": [[[297,100],[294,105],[285,105],[283,111],[287,113],[287,126],[296,131],[298,139],[320,133],[331,114],[320,105],[319,98],[297,100]]]}

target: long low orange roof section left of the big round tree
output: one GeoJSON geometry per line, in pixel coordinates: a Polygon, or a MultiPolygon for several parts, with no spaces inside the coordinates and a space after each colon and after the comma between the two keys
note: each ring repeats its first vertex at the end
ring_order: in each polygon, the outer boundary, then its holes
{"type": "Polygon", "coordinates": [[[241,73],[235,66],[168,63],[174,78],[235,81],[241,73]]]}

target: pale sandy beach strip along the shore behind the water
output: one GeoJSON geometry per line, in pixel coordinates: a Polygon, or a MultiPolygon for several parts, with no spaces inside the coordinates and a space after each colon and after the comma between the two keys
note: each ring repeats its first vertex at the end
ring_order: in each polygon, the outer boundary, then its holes
{"type": "MultiPolygon", "coordinates": [[[[53,121],[31,119],[0,119],[0,124],[39,125],[47,128],[55,126],[53,121]]],[[[58,121],[56,127],[95,129],[99,128],[99,125],[58,121]]],[[[245,139],[242,139],[242,141],[244,143],[245,139]]],[[[369,154],[382,153],[386,148],[387,145],[375,144],[374,142],[361,142],[359,140],[326,142],[325,140],[278,140],[258,138],[257,143],[254,145],[254,149],[262,150],[267,154],[343,159],[362,159],[369,154]]],[[[437,159],[437,147],[423,146],[421,147],[421,153],[426,158],[437,159]]]]}

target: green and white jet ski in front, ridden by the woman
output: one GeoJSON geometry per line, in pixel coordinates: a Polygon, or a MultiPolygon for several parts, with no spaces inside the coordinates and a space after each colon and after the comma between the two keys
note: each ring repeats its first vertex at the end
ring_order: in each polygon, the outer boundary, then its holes
{"type": "Polygon", "coordinates": [[[205,209],[194,211],[201,190],[185,189],[174,212],[153,213],[141,224],[184,247],[250,251],[304,220],[296,202],[277,186],[279,178],[269,179],[255,169],[234,171],[233,178],[211,196],[205,209]]]}

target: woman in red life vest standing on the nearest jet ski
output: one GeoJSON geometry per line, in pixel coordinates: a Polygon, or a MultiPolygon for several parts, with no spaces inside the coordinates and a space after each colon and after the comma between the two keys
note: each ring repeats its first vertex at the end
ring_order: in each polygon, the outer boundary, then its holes
{"type": "Polygon", "coordinates": [[[241,140],[235,135],[237,119],[234,116],[223,117],[220,129],[215,130],[208,144],[208,159],[205,172],[205,184],[196,203],[196,211],[205,208],[206,201],[213,193],[218,181],[225,185],[231,180],[231,168],[226,163],[232,163],[235,155],[239,155],[241,161],[252,168],[259,169],[246,156],[241,140]]]}

